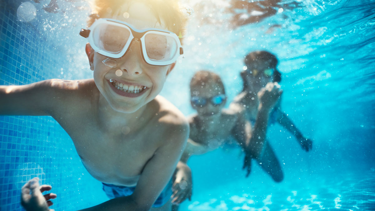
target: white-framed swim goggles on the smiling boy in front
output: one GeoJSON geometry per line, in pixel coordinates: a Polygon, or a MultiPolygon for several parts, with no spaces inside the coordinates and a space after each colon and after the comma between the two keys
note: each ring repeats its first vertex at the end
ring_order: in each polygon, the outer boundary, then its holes
{"type": "Polygon", "coordinates": [[[141,42],[141,54],[150,65],[170,65],[183,54],[177,35],[167,30],[148,28],[138,30],[123,21],[99,18],[80,35],[89,39],[93,50],[110,58],[118,59],[129,50],[133,39],[141,42]]]}

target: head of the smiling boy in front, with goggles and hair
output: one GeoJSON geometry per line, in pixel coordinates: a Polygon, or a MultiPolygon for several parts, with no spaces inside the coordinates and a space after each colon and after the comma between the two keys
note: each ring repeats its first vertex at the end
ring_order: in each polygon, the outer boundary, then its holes
{"type": "Polygon", "coordinates": [[[95,84],[114,110],[133,113],[159,94],[182,54],[185,18],[175,0],[94,2],[83,34],[95,84]]]}

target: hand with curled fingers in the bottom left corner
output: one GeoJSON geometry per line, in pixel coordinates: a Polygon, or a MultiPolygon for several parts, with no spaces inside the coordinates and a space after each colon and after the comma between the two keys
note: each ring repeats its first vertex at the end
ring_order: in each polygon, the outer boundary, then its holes
{"type": "Polygon", "coordinates": [[[35,177],[28,181],[21,190],[21,205],[27,211],[53,211],[48,207],[53,205],[50,199],[55,199],[56,194],[48,193],[43,196],[44,191],[51,190],[51,185],[39,186],[39,178],[35,177]]]}

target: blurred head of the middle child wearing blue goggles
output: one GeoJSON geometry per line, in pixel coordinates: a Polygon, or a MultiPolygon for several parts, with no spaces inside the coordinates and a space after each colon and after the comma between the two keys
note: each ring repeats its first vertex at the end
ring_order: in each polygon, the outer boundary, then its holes
{"type": "Polygon", "coordinates": [[[225,89],[219,75],[198,71],[190,81],[190,102],[201,116],[219,113],[226,102],[225,89]]]}

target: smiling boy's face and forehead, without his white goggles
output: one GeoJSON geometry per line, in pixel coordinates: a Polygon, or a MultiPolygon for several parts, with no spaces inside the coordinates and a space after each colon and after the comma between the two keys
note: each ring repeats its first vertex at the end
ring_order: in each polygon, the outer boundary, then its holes
{"type": "MultiPolygon", "coordinates": [[[[163,20],[160,20],[161,24],[157,21],[158,18],[151,12],[151,8],[137,1],[130,5],[126,3],[111,15],[102,18],[124,21],[136,29],[168,30],[163,20]]],[[[117,36],[114,35],[114,37],[117,36]]],[[[174,67],[174,64],[154,66],[146,63],[142,58],[138,40],[132,42],[128,52],[122,58],[115,59],[117,67],[105,65],[103,60],[108,57],[99,53],[94,52],[91,56],[88,53],[87,56],[89,56],[89,60],[92,59],[90,68],[94,71],[94,81],[99,91],[107,99],[112,109],[123,113],[133,113],[153,100],[162,90],[167,75],[174,67]],[[110,79],[114,79],[115,83],[111,83],[110,79]],[[130,93],[117,89],[118,85],[127,87],[130,93]],[[138,89],[138,93],[132,93],[134,92],[132,89],[138,89]]]]}

